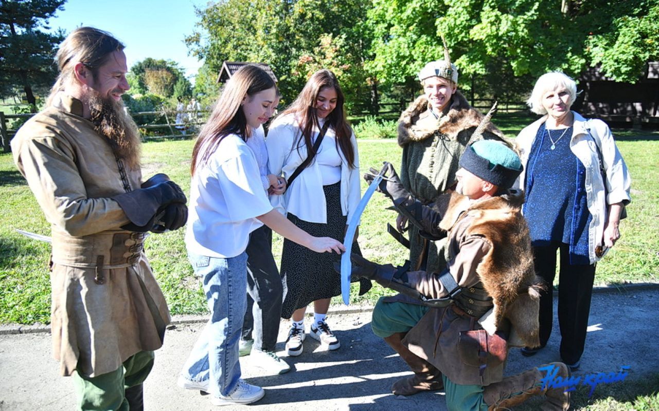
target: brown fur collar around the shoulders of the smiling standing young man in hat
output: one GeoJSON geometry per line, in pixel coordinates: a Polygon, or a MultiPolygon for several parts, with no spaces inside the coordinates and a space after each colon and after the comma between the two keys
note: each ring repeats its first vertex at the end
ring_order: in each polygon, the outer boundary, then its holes
{"type": "MultiPolygon", "coordinates": [[[[463,130],[478,127],[483,118],[483,114],[473,109],[459,91],[455,91],[451,97],[451,105],[445,116],[436,122],[417,122],[419,116],[428,108],[428,97],[421,95],[403,111],[398,122],[398,145],[403,147],[411,141],[427,139],[436,132],[446,135],[449,139],[456,139],[458,133],[463,130]],[[412,130],[413,125],[418,126],[415,132],[412,130]]],[[[485,131],[496,134],[505,141],[503,133],[494,124],[488,124],[485,131]]]]}

